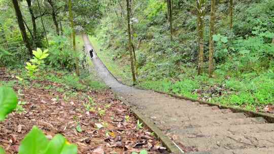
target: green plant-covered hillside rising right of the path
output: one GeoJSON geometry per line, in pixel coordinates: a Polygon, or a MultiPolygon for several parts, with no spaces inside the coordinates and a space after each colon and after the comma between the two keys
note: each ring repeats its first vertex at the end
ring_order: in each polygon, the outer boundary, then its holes
{"type": "MultiPolygon", "coordinates": [[[[204,51],[202,73],[199,75],[195,2],[173,1],[173,28],[170,28],[170,14],[166,8],[168,1],[133,3],[139,6],[133,7],[131,13],[132,20],[137,21],[132,21],[132,44],[138,67],[135,84],[146,89],[272,113],[274,22],[269,14],[273,9],[269,6],[273,5],[273,1],[234,2],[232,17],[228,1],[216,1],[215,31],[212,35],[213,74],[208,73],[210,2],[203,1],[202,6],[204,51]]],[[[125,3],[117,3],[110,7],[111,11],[101,19],[93,42],[98,42],[98,56],[118,79],[132,84],[127,35],[123,34],[127,26],[121,24],[126,23],[126,19],[113,13],[125,10],[121,7],[123,5],[125,3]]]]}

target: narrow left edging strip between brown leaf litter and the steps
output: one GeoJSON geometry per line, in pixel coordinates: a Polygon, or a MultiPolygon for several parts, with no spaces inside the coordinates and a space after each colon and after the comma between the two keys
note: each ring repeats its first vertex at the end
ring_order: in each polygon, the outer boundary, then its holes
{"type": "Polygon", "coordinates": [[[179,148],[176,147],[174,142],[172,142],[169,137],[167,137],[165,134],[162,133],[162,131],[153,124],[147,117],[145,117],[141,112],[138,111],[134,106],[130,105],[130,102],[126,100],[125,98],[121,97],[118,93],[112,91],[116,97],[121,100],[129,109],[132,111],[134,116],[139,119],[140,122],[142,122],[150,131],[154,132],[156,135],[156,138],[161,141],[161,143],[166,147],[166,149],[170,153],[179,154],[180,152],[179,148]]]}

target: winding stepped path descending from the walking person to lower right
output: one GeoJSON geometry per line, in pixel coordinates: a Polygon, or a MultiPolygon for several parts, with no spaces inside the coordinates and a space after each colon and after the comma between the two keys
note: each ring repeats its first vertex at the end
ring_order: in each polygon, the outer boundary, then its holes
{"type": "MultiPolygon", "coordinates": [[[[86,51],[92,45],[82,35],[86,51]]],[[[150,118],[185,152],[212,154],[274,153],[274,124],[218,106],[176,99],[118,82],[101,60],[92,59],[100,78],[131,105],[150,118]]]]}

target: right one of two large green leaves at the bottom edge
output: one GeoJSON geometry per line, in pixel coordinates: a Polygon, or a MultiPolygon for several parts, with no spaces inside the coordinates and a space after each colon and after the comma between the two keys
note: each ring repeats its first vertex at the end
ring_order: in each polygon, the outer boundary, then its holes
{"type": "Polygon", "coordinates": [[[70,144],[66,139],[58,134],[48,144],[44,154],[77,154],[77,146],[70,144]]]}

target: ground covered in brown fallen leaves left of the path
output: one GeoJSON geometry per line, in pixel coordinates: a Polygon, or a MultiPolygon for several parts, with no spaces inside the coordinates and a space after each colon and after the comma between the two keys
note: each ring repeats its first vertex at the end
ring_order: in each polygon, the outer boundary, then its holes
{"type": "Polygon", "coordinates": [[[66,72],[53,70],[47,75],[60,80],[40,74],[41,78],[20,82],[16,75],[21,75],[20,71],[0,69],[0,86],[13,87],[19,98],[16,111],[0,123],[0,145],[8,154],[18,152],[20,141],[35,125],[49,139],[62,134],[78,146],[78,153],[166,152],[153,133],[138,127],[130,109],[109,89],[96,90],[97,85],[78,90],[60,82],[66,72]]]}

